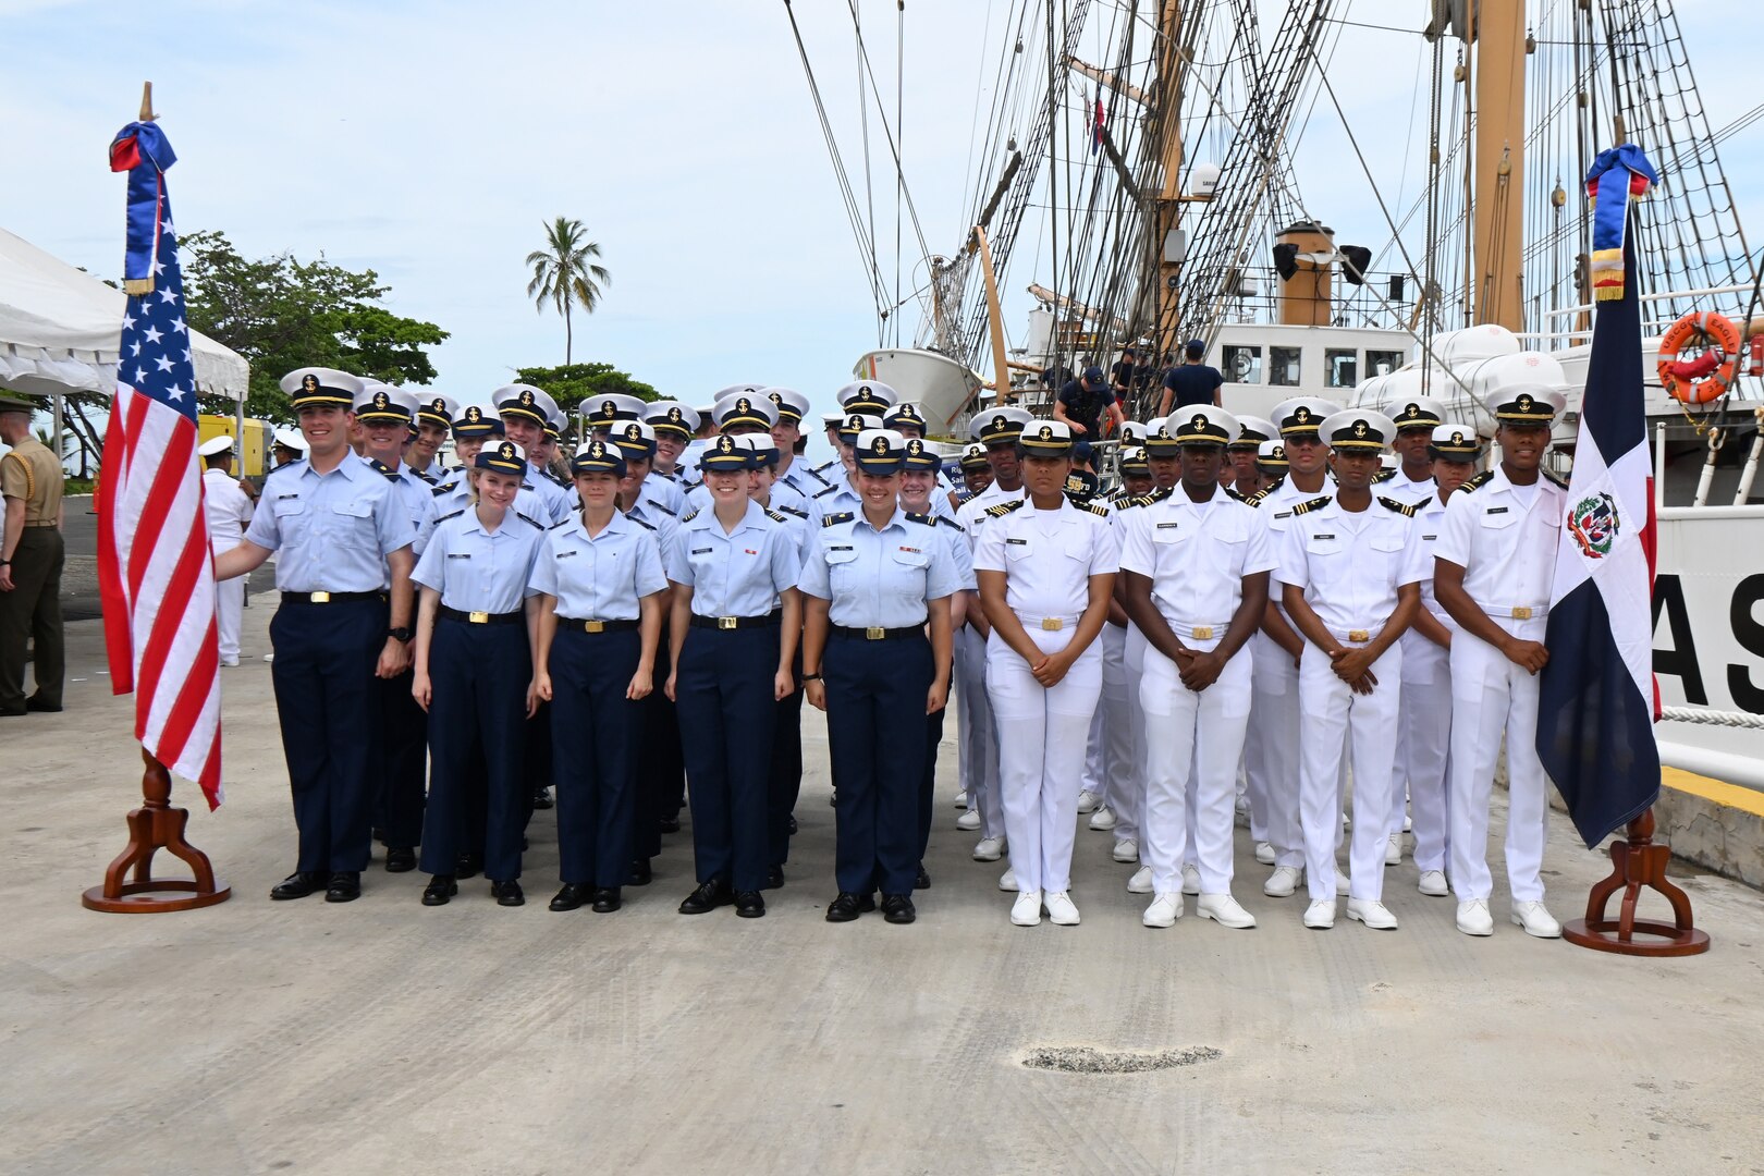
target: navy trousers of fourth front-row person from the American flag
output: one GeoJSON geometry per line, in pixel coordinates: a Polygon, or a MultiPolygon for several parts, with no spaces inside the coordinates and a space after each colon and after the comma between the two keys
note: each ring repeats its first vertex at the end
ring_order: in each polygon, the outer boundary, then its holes
{"type": "Polygon", "coordinates": [[[778,626],[686,633],[674,695],[691,799],[699,882],[760,890],[771,843],[767,778],[778,702],[778,626]]]}

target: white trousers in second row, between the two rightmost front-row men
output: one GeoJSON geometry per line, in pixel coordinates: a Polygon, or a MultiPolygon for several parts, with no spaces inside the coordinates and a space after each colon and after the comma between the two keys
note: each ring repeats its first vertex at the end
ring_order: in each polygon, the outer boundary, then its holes
{"type": "MultiPolygon", "coordinates": [[[[1452,640],[1457,640],[1457,626],[1452,640]]],[[[1402,716],[1397,728],[1397,770],[1390,783],[1390,832],[1402,829],[1408,792],[1415,830],[1415,867],[1446,866],[1446,760],[1452,749],[1452,658],[1425,636],[1402,635],[1402,716]]]]}

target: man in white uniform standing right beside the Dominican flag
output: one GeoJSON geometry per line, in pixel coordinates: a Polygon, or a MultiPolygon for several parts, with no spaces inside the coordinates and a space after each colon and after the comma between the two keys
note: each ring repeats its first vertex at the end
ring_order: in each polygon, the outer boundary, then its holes
{"type": "Polygon", "coordinates": [[[1489,788],[1506,735],[1506,883],[1512,920],[1552,940],[1561,924],[1544,906],[1549,783],[1536,753],[1538,670],[1549,661],[1544,617],[1556,575],[1563,487],[1542,471],[1561,393],[1533,386],[1494,407],[1501,462],[1459,487],[1434,545],[1434,598],[1459,624],[1452,635],[1452,894],[1457,929],[1491,934],[1489,788]]]}

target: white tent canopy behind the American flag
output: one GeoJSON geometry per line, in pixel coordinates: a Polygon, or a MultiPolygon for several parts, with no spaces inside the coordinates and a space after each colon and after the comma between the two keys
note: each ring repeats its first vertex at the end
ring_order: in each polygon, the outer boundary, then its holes
{"type": "MultiPolygon", "coordinates": [[[[0,229],[0,388],[55,397],[116,391],[127,298],[90,273],[0,229]]],[[[243,356],[191,331],[196,390],[243,400],[243,356]]]]}

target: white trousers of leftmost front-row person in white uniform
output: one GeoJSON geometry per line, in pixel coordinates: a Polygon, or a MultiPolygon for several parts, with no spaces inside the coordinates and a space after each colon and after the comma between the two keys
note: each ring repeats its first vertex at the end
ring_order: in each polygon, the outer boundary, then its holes
{"type": "MultiPolygon", "coordinates": [[[[1074,631],[1032,628],[1028,640],[1051,654],[1065,649],[1074,631]]],[[[1069,890],[1085,733],[1102,696],[1102,651],[1092,642],[1046,689],[993,633],[986,642],[986,695],[998,726],[998,793],[1016,885],[1023,892],[1069,890]]]]}

